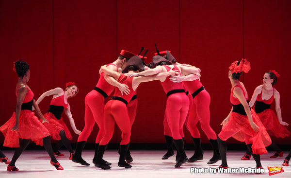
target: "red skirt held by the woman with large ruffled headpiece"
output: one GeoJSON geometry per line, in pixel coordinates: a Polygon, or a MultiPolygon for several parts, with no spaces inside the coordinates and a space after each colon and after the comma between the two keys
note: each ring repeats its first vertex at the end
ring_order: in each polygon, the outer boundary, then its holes
{"type": "Polygon", "coordinates": [[[253,109],[251,109],[253,122],[259,126],[259,133],[256,133],[251,127],[247,116],[239,114],[237,112],[232,112],[228,123],[222,129],[225,132],[236,132],[232,137],[238,141],[245,142],[244,134],[250,136],[249,141],[252,142],[252,152],[254,154],[266,154],[266,146],[272,143],[266,128],[259,120],[259,117],[253,109]]]}

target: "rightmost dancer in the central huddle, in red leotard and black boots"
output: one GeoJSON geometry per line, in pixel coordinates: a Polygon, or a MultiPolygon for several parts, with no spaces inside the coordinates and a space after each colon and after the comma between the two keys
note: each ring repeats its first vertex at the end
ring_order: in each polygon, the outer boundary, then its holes
{"type": "MultiPolygon", "coordinates": [[[[174,65],[181,65],[176,61],[174,56],[169,51],[166,52],[165,57],[174,65]]],[[[201,148],[200,133],[196,126],[198,121],[200,121],[201,129],[206,134],[213,148],[213,156],[207,162],[207,164],[213,164],[216,163],[218,160],[221,160],[221,158],[219,154],[217,136],[213,129],[210,127],[210,94],[203,87],[200,80],[197,80],[200,78],[200,76],[200,73],[183,73],[183,76],[171,76],[170,80],[173,82],[182,82],[183,86],[190,93],[192,93],[189,94],[192,98],[192,100],[190,98],[190,101],[192,101],[192,103],[190,105],[189,117],[186,119],[185,125],[191,133],[192,140],[194,142],[195,152],[194,155],[188,159],[188,162],[203,160],[203,150],[201,148]]],[[[169,138],[166,138],[166,140],[167,139],[171,140],[169,138]]],[[[170,142],[172,142],[172,140],[170,142]]]]}

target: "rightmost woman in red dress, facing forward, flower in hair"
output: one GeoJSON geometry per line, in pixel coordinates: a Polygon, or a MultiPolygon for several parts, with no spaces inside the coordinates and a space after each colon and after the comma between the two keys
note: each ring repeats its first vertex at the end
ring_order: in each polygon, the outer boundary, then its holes
{"type": "MultiPolygon", "coordinates": [[[[255,89],[249,105],[250,107],[253,107],[256,102],[255,112],[270,135],[274,135],[277,138],[284,138],[286,136],[290,136],[290,132],[284,126],[288,126],[289,124],[282,121],[280,94],[276,89],[273,88],[273,85],[277,83],[277,78],[279,76],[280,75],[276,71],[267,71],[263,77],[263,85],[260,85],[255,89]],[[275,115],[274,111],[270,109],[274,99],[277,116],[275,115]]],[[[269,146],[276,151],[276,153],[270,158],[283,156],[283,151],[273,140],[269,146]]],[[[250,158],[251,151],[247,149],[241,160],[249,160],[250,158]]]]}

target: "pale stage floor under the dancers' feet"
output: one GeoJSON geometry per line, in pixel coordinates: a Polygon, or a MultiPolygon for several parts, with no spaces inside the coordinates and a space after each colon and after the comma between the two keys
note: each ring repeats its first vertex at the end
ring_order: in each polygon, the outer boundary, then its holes
{"type": "MultiPolygon", "coordinates": [[[[14,151],[2,150],[3,153],[12,159],[14,151]]],[[[204,151],[204,160],[194,163],[184,163],[180,168],[174,168],[175,156],[168,160],[162,160],[165,150],[131,150],[133,162],[130,163],[132,168],[125,169],[118,167],[117,162],[119,155],[117,150],[107,150],[104,154],[104,160],[112,162],[111,169],[103,170],[97,168],[92,163],[94,150],[84,150],[82,157],[90,166],[82,166],[81,164],[69,160],[67,150],[60,150],[65,154],[63,157],[56,157],[64,170],[58,171],[49,163],[49,155],[45,150],[24,150],[20,158],[16,161],[16,167],[19,171],[8,172],[7,165],[0,163],[1,178],[210,178],[210,177],[269,177],[267,166],[282,166],[285,155],[281,158],[270,159],[274,154],[270,152],[261,156],[261,163],[264,168],[263,174],[253,173],[209,173],[210,168],[217,168],[221,161],[208,165],[207,162],[212,157],[212,151],[204,151]],[[191,173],[191,168],[205,168],[208,173],[191,173]]],[[[175,150],[176,152],[176,150],[175,150]]],[[[186,150],[188,158],[193,155],[193,151],[186,150]]],[[[241,160],[244,155],[243,151],[227,151],[227,163],[230,168],[255,168],[256,163],[253,158],[251,160],[241,160]]],[[[283,166],[284,172],[272,175],[272,178],[290,178],[291,166],[283,166]]]]}

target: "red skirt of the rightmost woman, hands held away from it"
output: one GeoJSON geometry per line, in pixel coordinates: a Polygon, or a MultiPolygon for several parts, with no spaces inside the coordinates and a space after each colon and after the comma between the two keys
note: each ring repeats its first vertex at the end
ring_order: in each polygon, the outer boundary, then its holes
{"type": "Polygon", "coordinates": [[[279,123],[278,117],[275,115],[275,112],[272,109],[266,109],[257,115],[270,135],[273,135],[277,138],[290,136],[290,132],[284,125],[279,123]]]}

